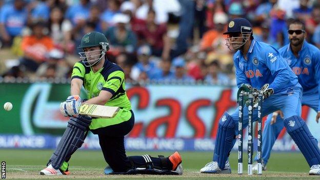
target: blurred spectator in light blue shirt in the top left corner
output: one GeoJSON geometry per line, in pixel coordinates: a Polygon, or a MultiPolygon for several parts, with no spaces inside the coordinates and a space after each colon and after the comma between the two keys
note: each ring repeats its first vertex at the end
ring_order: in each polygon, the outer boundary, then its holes
{"type": "Polygon", "coordinates": [[[21,35],[27,24],[24,0],[14,0],[0,9],[0,37],[4,46],[11,46],[13,37],[21,35]]]}

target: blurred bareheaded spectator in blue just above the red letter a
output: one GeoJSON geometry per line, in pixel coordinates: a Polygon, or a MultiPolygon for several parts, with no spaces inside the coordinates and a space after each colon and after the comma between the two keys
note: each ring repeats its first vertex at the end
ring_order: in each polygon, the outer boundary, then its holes
{"type": "Polygon", "coordinates": [[[149,78],[155,81],[169,82],[174,76],[174,72],[171,70],[171,61],[162,59],[160,67],[161,69],[155,71],[149,78]]]}

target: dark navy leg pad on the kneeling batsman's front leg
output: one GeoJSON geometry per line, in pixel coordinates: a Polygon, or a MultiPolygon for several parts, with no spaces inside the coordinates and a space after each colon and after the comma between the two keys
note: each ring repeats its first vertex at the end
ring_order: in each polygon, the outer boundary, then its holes
{"type": "Polygon", "coordinates": [[[69,119],[68,126],[49,160],[49,164],[51,163],[54,169],[59,169],[63,162],[68,161],[71,155],[82,146],[90,123],[89,116],[78,115],[69,119]]]}

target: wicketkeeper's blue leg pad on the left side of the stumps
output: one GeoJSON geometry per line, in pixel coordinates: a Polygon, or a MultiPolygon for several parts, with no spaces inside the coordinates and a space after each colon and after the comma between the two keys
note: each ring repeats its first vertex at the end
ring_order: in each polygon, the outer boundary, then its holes
{"type": "Polygon", "coordinates": [[[229,153],[233,147],[234,122],[232,116],[225,112],[219,120],[218,132],[215,139],[213,161],[219,168],[224,169],[229,153]]]}

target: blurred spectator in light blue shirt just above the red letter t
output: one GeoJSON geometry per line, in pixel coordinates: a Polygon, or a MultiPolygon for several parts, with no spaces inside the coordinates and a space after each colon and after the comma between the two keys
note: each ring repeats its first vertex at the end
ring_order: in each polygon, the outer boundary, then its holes
{"type": "Polygon", "coordinates": [[[208,66],[208,75],[205,78],[205,82],[214,85],[229,85],[229,77],[221,72],[218,61],[212,61],[208,66]]]}

